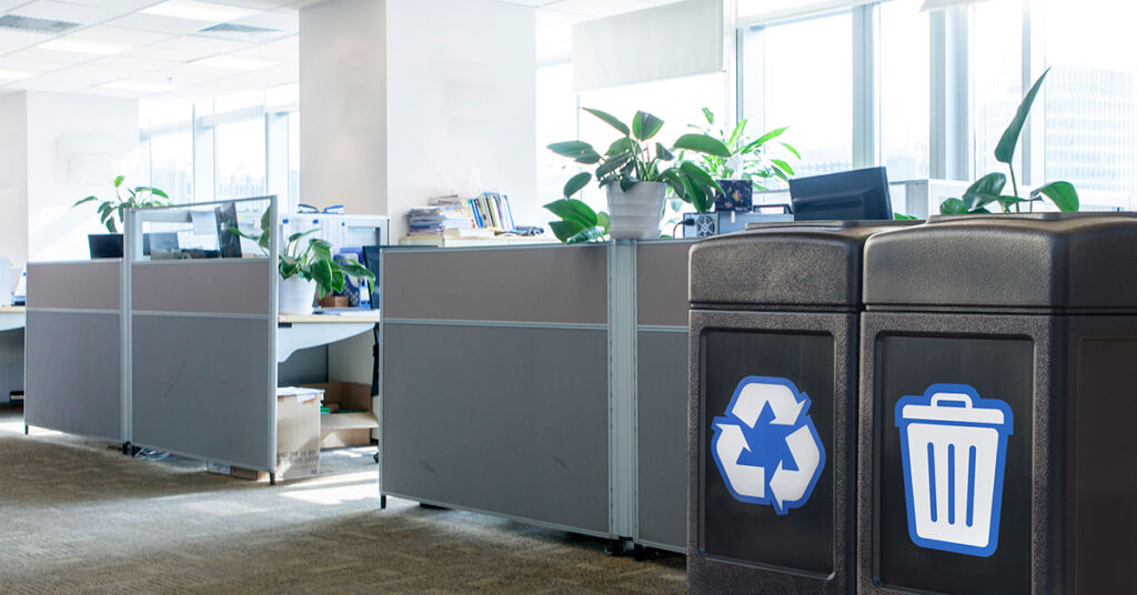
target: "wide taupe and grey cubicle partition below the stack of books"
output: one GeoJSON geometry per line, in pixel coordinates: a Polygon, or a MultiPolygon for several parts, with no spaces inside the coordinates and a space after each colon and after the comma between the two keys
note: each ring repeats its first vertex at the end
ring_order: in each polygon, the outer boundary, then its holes
{"type": "Polygon", "coordinates": [[[383,495],[615,537],[606,246],[385,250],[383,495]]]}

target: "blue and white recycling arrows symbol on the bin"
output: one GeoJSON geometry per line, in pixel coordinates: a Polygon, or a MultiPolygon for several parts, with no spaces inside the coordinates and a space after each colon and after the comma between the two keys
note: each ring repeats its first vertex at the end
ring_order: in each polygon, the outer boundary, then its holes
{"type": "Polygon", "coordinates": [[[785,378],[747,377],[713,421],[711,455],[730,495],[778,514],[804,505],[825,466],[808,395],[785,378]]]}

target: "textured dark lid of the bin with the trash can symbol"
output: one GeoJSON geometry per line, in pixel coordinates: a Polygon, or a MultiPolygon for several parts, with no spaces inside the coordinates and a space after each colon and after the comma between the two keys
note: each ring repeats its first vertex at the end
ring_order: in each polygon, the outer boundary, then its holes
{"type": "Polygon", "coordinates": [[[1137,214],[932,217],[865,243],[870,309],[1137,311],[1137,214]]]}

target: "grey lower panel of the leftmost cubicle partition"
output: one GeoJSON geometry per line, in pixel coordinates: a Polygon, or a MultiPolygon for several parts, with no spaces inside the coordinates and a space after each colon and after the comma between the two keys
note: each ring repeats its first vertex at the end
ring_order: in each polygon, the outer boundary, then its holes
{"type": "Polygon", "coordinates": [[[118,314],[27,313],[24,421],[122,440],[118,314]]]}

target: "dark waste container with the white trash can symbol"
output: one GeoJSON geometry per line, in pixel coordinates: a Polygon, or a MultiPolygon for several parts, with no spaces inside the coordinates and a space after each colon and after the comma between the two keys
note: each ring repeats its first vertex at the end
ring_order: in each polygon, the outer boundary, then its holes
{"type": "Polygon", "coordinates": [[[858,593],[1134,593],[1137,221],[982,216],[865,249],[858,593]]]}

